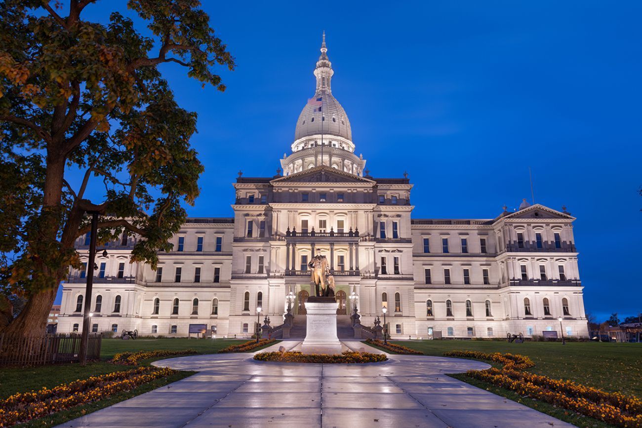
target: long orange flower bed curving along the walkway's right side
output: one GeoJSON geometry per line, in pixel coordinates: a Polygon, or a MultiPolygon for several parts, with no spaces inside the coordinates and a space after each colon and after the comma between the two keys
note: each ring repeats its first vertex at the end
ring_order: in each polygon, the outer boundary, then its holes
{"type": "Polygon", "coordinates": [[[642,400],[620,393],[609,393],[571,381],[561,381],[515,368],[530,368],[530,358],[513,354],[484,354],[483,352],[453,351],[444,355],[486,359],[503,363],[501,370],[469,370],[466,375],[510,389],[519,395],[535,398],[581,415],[620,427],[642,427],[642,400]]]}

